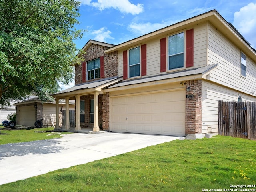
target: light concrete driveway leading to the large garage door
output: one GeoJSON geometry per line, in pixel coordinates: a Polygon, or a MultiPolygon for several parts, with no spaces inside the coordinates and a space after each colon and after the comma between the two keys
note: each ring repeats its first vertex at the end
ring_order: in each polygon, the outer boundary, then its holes
{"type": "Polygon", "coordinates": [[[147,146],[184,139],[110,132],[62,136],[56,139],[0,145],[0,185],[147,146]]]}

